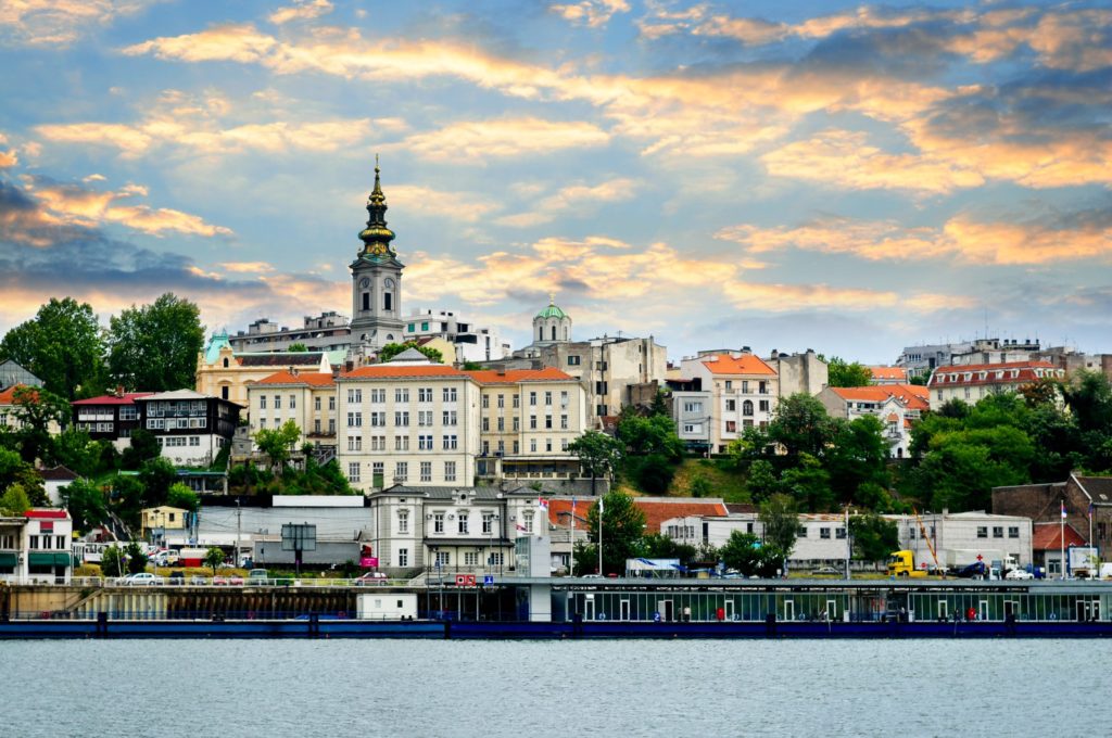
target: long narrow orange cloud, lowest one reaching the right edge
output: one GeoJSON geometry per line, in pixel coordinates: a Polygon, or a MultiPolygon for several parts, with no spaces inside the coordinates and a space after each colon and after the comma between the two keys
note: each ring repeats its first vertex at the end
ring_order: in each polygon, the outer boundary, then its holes
{"type": "Polygon", "coordinates": [[[868,261],[937,261],[1025,266],[1112,259],[1112,207],[1036,218],[979,221],[963,215],[941,227],[893,220],[821,218],[796,227],[733,226],[715,238],[746,253],[788,249],[850,255],[868,261]]]}

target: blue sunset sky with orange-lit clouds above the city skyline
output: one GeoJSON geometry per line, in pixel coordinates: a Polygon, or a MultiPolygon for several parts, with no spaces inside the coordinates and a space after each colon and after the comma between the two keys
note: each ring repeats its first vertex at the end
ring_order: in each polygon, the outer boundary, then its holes
{"type": "Polygon", "coordinates": [[[1112,4],[0,2],[0,332],[171,291],[573,336],[1112,352],[1112,4]]]}

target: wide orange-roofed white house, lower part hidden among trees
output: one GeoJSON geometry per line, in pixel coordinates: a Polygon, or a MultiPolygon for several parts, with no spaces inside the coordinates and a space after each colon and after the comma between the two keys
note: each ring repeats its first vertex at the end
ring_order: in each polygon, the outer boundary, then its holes
{"type": "Polygon", "coordinates": [[[927,389],[917,385],[826,387],[817,396],[832,418],[853,420],[865,415],[880,418],[892,458],[907,456],[911,427],[929,409],[927,389]]]}

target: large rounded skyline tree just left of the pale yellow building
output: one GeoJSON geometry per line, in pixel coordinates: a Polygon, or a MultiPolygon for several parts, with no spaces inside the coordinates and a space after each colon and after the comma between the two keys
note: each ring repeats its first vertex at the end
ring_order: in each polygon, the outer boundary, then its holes
{"type": "Polygon", "coordinates": [[[130,390],[192,389],[203,345],[200,309],[167,292],[152,305],[132,305],[109,320],[108,371],[130,390]]]}

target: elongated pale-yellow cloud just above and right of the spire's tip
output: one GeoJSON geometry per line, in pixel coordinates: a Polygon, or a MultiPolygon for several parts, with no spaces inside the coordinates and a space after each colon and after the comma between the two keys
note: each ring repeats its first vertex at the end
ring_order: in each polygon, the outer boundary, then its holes
{"type": "Polygon", "coordinates": [[[492,157],[597,147],[608,140],[606,131],[587,122],[513,118],[451,123],[437,131],[410,136],[401,146],[423,159],[474,162],[492,157]]]}

